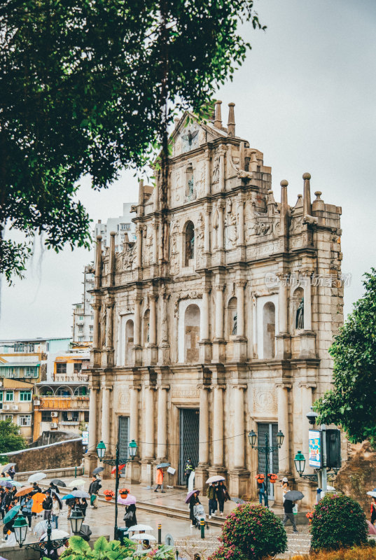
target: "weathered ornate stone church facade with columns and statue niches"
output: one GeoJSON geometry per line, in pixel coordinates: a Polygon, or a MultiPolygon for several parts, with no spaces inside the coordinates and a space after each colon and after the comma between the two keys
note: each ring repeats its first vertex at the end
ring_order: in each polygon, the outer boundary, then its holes
{"type": "Polygon", "coordinates": [[[137,241],[116,254],[113,234],[97,251],[87,461],[125,417],[139,443],[132,481],[150,483],[167,460],[177,484],[197,449],[197,487],[223,473],[241,496],[263,460],[249,430],[260,444],[265,430],[284,433],[269,472],[292,475],[307,453],[305,414],[330,384],[343,320],[341,209],[319,192],[311,202],[309,174],[295,206],[287,181],[276,202],[263,153],[235,136],[233,104],[227,128],[218,102],[214,121],[186,113],[172,139],[167,211],[160,178],[153,193],[141,183],[137,241]]]}

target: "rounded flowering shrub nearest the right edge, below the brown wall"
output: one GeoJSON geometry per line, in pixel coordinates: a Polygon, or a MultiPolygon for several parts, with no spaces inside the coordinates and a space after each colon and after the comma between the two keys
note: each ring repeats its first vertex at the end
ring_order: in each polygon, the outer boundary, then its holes
{"type": "Polygon", "coordinates": [[[363,545],[368,540],[365,514],[349,496],[325,496],[314,508],[311,534],[314,550],[363,545]]]}

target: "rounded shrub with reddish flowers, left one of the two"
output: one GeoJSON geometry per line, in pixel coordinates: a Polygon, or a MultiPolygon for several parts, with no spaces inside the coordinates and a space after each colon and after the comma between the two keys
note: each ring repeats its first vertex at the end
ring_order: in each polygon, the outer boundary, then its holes
{"type": "MultiPolygon", "coordinates": [[[[225,520],[220,540],[223,542],[223,552],[222,556],[218,556],[218,560],[238,559],[239,555],[225,555],[233,554],[231,547],[249,560],[274,556],[287,549],[284,526],[280,519],[263,505],[239,505],[225,520]]],[[[214,560],[217,560],[216,556],[214,560]]]]}

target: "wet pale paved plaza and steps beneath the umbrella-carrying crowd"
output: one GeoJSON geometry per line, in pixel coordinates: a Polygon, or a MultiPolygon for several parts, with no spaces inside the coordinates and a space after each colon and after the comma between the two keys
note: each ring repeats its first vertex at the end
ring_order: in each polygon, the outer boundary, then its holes
{"type": "MultiPolygon", "coordinates": [[[[85,485],[83,489],[88,491],[90,484],[90,478],[83,477],[85,479],[85,485]]],[[[64,482],[68,484],[71,482],[71,478],[64,479],[64,482]]],[[[46,486],[48,486],[48,479],[43,480],[46,486]]],[[[130,486],[124,479],[120,482],[120,488],[125,486],[130,488],[131,493],[137,497],[138,502],[144,504],[150,504],[153,506],[166,506],[173,507],[176,511],[185,512],[188,515],[188,505],[186,505],[186,490],[185,489],[168,489],[166,488],[165,493],[155,493],[153,489],[147,489],[144,486],[132,485],[130,486]]],[[[43,489],[43,488],[42,488],[43,489]]],[[[100,494],[103,494],[105,489],[115,489],[115,480],[106,479],[102,481],[102,489],[100,494]]],[[[100,496],[101,497],[101,496],[100,496]]],[[[200,496],[202,505],[204,505],[205,511],[208,511],[208,500],[206,496],[200,496]]],[[[115,502],[106,502],[103,499],[97,500],[98,507],[96,510],[90,509],[88,507],[87,515],[85,518],[85,524],[90,525],[93,535],[110,535],[113,538],[113,524],[115,519],[115,502]]],[[[236,507],[236,504],[232,501],[225,503],[225,515],[230,513],[232,509],[236,507]]],[[[276,513],[281,513],[281,507],[272,507],[276,513]]],[[[64,531],[71,533],[70,524],[67,520],[67,507],[64,506],[59,518],[59,528],[64,531]]],[[[118,508],[118,526],[123,526],[123,515],[125,508],[119,506],[118,508]]],[[[187,519],[175,519],[173,517],[165,517],[158,513],[151,513],[147,511],[137,511],[137,521],[138,523],[148,524],[153,527],[153,535],[155,537],[158,535],[158,524],[162,524],[162,541],[164,542],[167,533],[173,536],[176,541],[176,547],[179,549],[180,555],[184,559],[193,558],[193,552],[200,551],[203,557],[207,557],[211,552],[218,547],[218,536],[221,533],[220,527],[211,527],[206,533],[206,538],[204,542],[200,539],[200,533],[196,529],[190,528],[190,521],[187,519]]],[[[33,521],[32,528],[34,528],[37,521],[33,521]]],[[[300,528],[299,535],[293,535],[291,533],[292,528],[286,528],[288,531],[288,554],[284,554],[281,557],[288,557],[291,554],[296,554],[297,552],[307,552],[309,549],[309,534],[308,527],[302,526],[300,528]]],[[[28,533],[27,542],[35,542],[36,536],[33,533],[28,533]]],[[[1,543],[2,546],[4,543],[1,543]]],[[[0,548],[1,550],[1,548],[0,548]]],[[[0,553],[1,555],[1,553],[0,553]]]]}

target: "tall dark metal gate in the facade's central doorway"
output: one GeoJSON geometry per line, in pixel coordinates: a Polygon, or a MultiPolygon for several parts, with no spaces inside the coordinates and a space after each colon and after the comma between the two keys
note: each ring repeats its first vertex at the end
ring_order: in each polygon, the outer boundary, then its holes
{"type": "Polygon", "coordinates": [[[184,466],[188,457],[193,468],[198,465],[200,411],[192,408],[181,408],[179,416],[180,454],[179,484],[184,484],[184,466]]]}

